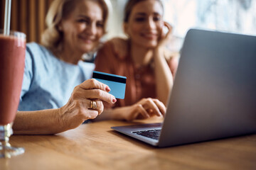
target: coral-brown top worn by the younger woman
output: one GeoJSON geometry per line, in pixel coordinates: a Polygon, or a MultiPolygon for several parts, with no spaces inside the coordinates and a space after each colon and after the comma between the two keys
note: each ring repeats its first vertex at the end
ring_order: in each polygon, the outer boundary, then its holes
{"type": "MultiPolygon", "coordinates": [[[[131,106],[142,98],[157,98],[154,64],[135,67],[128,49],[129,40],[114,38],[97,52],[96,71],[127,77],[124,99],[117,99],[113,105],[104,103],[105,108],[131,106]]],[[[171,57],[166,62],[171,69],[171,57]]]]}

